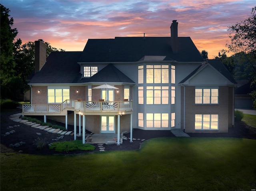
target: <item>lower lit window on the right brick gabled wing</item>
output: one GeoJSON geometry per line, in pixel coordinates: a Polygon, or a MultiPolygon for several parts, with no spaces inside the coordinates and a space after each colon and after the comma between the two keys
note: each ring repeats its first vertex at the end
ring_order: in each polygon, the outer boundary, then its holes
{"type": "Polygon", "coordinates": [[[195,130],[218,130],[218,114],[196,114],[195,130]]]}

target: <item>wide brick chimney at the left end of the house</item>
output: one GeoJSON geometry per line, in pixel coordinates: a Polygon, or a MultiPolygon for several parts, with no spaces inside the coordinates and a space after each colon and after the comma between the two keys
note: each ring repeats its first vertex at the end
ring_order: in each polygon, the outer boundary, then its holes
{"type": "Polygon", "coordinates": [[[46,44],[42,39],[35,41],[35,73],[46,63],[46,44]]]}

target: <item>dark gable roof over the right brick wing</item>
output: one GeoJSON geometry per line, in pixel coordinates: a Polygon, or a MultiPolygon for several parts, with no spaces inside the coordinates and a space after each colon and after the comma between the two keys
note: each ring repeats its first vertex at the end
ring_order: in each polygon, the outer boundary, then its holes
{"type": "MultiPolygon", "coordinates": [[[[212,65],[212,67],[214,67],[218,72],[220,72],[224,77],[226,77],[231,83],[236,84],[236,81],[229,73],[229,71],[226,69],[226,67],[223,65],[223,63],[220,61],[220,59],[207,60],[207,63],[212,65]]],[[[188,79],[194,76],[200,69],[205,67],[207,63],[198,66],[194,71],[192,71],[192,73],[190,73],[186,78],[180,81],[179,84],[185,83],[188,79]]]]}

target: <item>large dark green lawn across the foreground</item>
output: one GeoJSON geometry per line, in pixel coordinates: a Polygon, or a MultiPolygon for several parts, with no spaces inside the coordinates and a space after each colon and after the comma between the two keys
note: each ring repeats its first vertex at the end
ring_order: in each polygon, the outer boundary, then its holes
{"type": "Polygon", "coordinates": [[[1,154],[1,190],[250,191],[255,148],[241,138],[156,138],[138,151],[1,154]]]}

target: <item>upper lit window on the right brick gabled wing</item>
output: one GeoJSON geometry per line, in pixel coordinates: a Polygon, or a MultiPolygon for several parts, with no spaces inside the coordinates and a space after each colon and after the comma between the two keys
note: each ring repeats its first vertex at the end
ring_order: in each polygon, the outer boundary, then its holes
{"type": "Polygon", "coordinates": [[[219,90],[217,88],[196,88],[195,104],[218,104],[219,90]]]}

